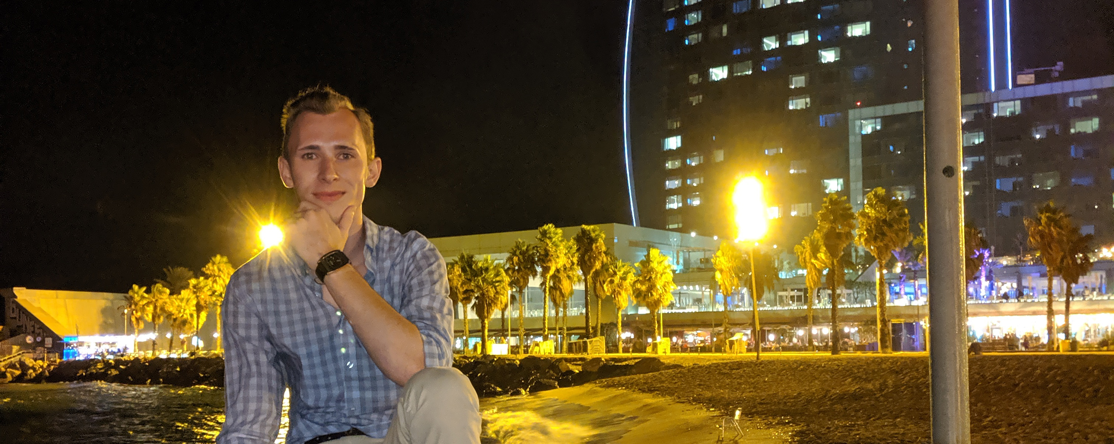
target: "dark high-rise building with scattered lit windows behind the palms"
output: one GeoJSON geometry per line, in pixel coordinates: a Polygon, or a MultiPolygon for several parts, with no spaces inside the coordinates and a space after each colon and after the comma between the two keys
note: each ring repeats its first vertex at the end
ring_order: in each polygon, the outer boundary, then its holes
{"type": "MultiPolygon", "coordinates": [[[[859,209],[883,186],[907,201],[912,226],[924,219],[920,1],[641,4],[664,85],[656,120],[638,128],[655,135],[637,148],[654,160],[638,189],[647,226],[733,237],[731,186],[744,175],[768,184],[768,243],[783,249],[815,226],[830,192],[859,209]]],[[[1054,199],[1110,242],[1114,190],[1098,170],[1114,166],[1102,135],[1111,90],[1105,78],[1018,85],[1012,7],[960,0],[967,218],[1016,254],[1020,216],[1054,199]],[[1053,172],[1075,187],[1043,189],[1053,172]]],[[[1064,80],[1049,73],[1036,83],[1064,80]]]]}

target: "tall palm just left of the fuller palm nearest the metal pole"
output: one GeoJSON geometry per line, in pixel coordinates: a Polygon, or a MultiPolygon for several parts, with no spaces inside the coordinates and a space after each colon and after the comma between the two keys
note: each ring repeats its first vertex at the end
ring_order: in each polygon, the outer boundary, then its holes
{"type": "Polygon", "coordinates": [[[839,295],[836,292],[838,286],[843,284],[843,249],[851,243],[854,238],[854,212],[847,197],[836,193],[829,193],[824,197],[824,203],[817,212],[817,232],[820,234],[820,243],[823,251],[818,254],[820,263],[828,269],[828,286],[831,289],[832,302],[832,328],[831,328],[831,350],[832,355],[839,355],[839,295]]]}

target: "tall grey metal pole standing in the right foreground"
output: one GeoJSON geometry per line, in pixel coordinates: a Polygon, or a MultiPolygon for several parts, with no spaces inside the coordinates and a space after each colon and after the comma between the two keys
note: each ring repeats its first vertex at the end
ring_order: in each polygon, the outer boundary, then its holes
{"type": "Polygon", "coordinates": [[[925,220],[932,443],[968,444],[959,2],[926,0],[925,12],[925,220]]]}

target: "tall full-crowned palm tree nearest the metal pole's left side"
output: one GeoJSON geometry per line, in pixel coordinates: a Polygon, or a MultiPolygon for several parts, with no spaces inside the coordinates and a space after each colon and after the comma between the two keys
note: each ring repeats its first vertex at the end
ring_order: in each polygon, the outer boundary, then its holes
{"type": "Polygon", "coordinates": [[[892,353],[893,340],[886,306],[890,291],[886,286],[886,264],[893,259],[893,251],[905,248],[912,240],[909,232],[909,209],[896,195],[877,187],[867,194],[866,204],[859,210],[859,232],[854,242],[867,249],[878,260],[874,291],[878,298],[878,351],[892,353]]]}

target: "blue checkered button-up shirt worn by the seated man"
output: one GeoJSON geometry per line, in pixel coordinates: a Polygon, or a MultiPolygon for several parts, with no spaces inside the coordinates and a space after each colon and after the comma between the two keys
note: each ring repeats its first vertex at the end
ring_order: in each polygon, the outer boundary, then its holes
{"type": "MultiPolygon", "coordinates": [[[[364,280],[418,327],[427,367],[452,365],[444,260],[417,232],[363,219],[364,280]]],[[[290,387],[286,442],[359,428],[383,437],[401,386],[375,366],[352,326],[322,299],[305,262],[271,248],[232,276],[223,302],[225,423],[217,443],[271,444],[290,387]]]]}

